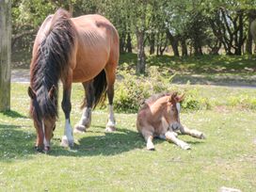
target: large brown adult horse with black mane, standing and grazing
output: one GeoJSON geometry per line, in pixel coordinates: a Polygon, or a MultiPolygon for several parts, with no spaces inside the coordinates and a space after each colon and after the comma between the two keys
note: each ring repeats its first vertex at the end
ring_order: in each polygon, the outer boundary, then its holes
{"type": "Polygon", "coordinates": [[[113,112],[114,83],[119,62],[119,35],[116,28],[100,15],[71,18],[64,9],[48,16],[37,34],[30,65],[30,114],[37,130],[37,150],[49,151],[56,127],[58,81],[63,84],[62,109],[65,131],[61,144],[73,145],[70,113],[72,82],[81,82],[86,96],[83,115],[76,132],[89,127],[91,109],[109,102],[106,131],[115,130],[113,112]]]}

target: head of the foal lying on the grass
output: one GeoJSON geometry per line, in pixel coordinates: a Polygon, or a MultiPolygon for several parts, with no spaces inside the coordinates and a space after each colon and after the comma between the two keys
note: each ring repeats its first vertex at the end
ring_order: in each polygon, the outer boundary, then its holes
{"type": "Polygon", "coordinates": [[[166,120],[168,120],[169,126],[173,129],[179,129],[181,126],[180,112],[181,102],[184,100],[184,94],[178,95],[177,92],[173,92],[168,97],[167,113],[165,114],[166,120]]]}

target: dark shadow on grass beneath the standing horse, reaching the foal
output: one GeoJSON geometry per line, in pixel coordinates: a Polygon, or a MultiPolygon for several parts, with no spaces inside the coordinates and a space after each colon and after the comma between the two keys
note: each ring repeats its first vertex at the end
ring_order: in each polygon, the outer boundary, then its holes
{"type": "Polygon", "coordinates": [[[78,140],[78,144],[75,144],[72,150],[64,149],[61,146],[54,146],[49,155],[108,156],[142,148],[145,148],[145,142],[137,132],[119,128],[114,133],[105,133],[104,136],[84,136],[78,140]]]}

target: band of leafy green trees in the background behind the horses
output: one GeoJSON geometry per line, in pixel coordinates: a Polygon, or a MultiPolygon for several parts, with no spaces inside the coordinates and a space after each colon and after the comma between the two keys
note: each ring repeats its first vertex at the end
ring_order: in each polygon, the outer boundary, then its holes
{"type": "Polygon", "coordinates": [[[17,52],[31,51],[40,24],[56,8],[66,8],[73,16],[99,13],[108,18],[119,31],[120,52],[137,53],[136,73],[145,72],[145,53],[241,56],[254,52],[249,30],[256,18],[255,0],[13,0],[15,61],[30,57],[15,59],[17,52]]]}

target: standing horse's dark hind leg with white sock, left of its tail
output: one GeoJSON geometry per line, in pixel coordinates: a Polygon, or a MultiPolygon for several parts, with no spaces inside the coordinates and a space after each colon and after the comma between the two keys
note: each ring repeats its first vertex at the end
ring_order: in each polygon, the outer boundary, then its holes
{"type": "Polygon", "coordinates": [[[92,110],[92,104],[94,101],[94,92],[95,89],[93,88],[93,80],[89,82],[84,82],[83,86],[85,88],[85,100],[83,104],[83,113],[81,120],[74,126],[74,132],[81,133],[86,132],[88,127],[90,126],[91,122],[91,110],[92,110]]]}

